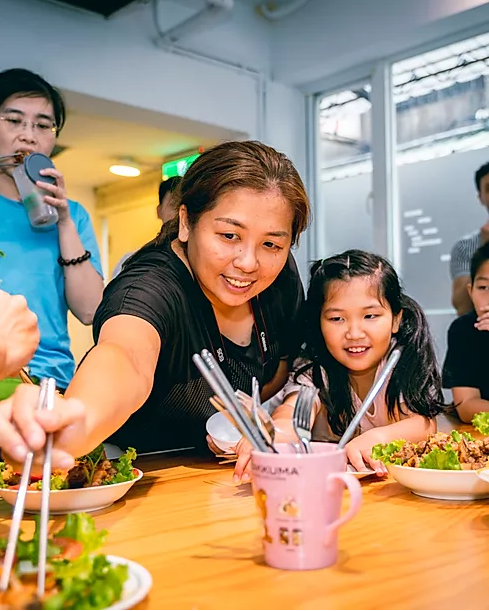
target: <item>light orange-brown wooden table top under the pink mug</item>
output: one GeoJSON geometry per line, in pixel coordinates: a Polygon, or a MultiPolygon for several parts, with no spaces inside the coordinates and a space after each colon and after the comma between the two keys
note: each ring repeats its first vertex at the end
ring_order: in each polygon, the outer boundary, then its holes
{"type": "MultiPolygon", "coordinates": [[[[439,430],[452,427],[443,420],[439,430]]],[[[390,478],[362,480],[363,507],[341,529],[338,563],[279,571],[263,563],[251,487],[232,485],[232,467],[189,457],[140,466],[129,494],[94,514],[109,531],[105,551],[153,575],[138,609],[488,608],[488,501],[436,501],[390,478]]]]}

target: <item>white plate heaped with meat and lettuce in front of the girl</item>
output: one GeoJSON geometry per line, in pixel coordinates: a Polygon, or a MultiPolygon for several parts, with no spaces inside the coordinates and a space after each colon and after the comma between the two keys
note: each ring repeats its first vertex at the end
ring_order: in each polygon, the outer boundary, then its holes
{"type": "Polygon", "coordinates": [[[389,473],[418,496],[449,501],[489,498],[489,481],[478,471],[489,466],[489,438],[470,433],[434,433],[425,441],[397,439],[372,448],[389,473]]]}

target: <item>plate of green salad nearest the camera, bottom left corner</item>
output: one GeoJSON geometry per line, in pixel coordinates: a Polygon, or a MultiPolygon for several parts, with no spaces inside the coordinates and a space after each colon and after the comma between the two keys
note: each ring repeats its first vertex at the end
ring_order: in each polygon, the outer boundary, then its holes
{"type": "MultiPolygon", "coordinates": [[[[46,593],[39,600],[37,554],[39,521],[31,539],[20,538],[9,588],[1,609],[131,609],[148,594],[151,574],[140,564],[100,552],[107,531],[97,531],[91,516],[69,514],[47,546],[46,593]]],[[[0,539],[5,551],[7,539],[0,539]]]]}

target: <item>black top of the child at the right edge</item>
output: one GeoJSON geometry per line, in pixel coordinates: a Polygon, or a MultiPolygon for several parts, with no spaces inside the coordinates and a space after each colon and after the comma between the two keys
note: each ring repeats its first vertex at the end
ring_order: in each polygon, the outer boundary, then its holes
{"type": "Polygon", "coordinates": [[[477,314],[456,318],[448,329],[448,347],[443,364],[445,388],[477,388],[489,400],[489,331],[474,327],[477,314]]]}

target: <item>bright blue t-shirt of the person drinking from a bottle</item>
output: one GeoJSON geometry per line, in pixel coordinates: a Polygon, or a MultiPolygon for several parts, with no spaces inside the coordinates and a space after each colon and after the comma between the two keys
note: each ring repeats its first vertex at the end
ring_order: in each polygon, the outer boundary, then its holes
{"type": "MultiPolygon", "coordinates": [[[[91,264],[102,276],[100,254],[90,217],[77,202],[68,200],[70,214],[91,264]]],[[[68,304],[57,225],[34,229],[17,201],[0,195],[0,288],[11,295],[23,295],[39,319],[41,341],[29,363],[32,375],[53,377],[66,388],[75,371],[68,336],[68,304]]]]}

